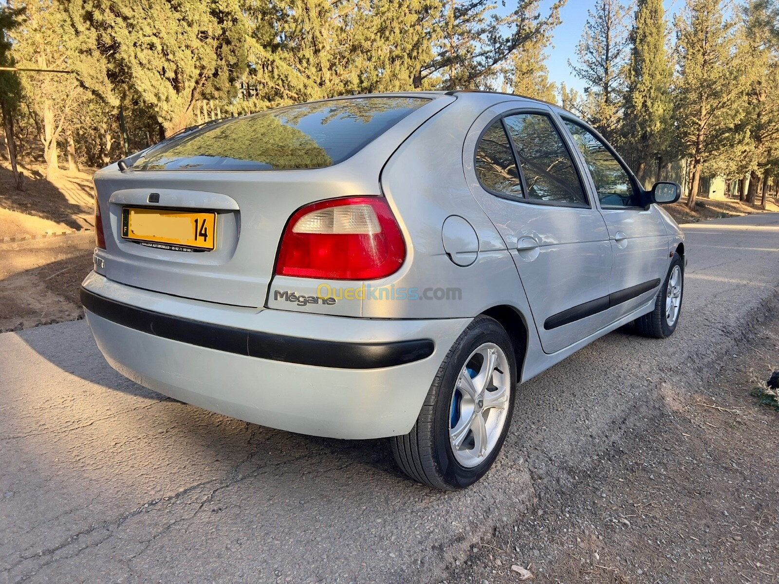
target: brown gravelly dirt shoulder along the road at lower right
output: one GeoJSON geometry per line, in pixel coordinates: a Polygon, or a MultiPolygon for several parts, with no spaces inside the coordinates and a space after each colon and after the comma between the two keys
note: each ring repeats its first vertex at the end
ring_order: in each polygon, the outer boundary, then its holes
{"type": "Polygon", "coordinates": [[[662,386],[656,426],[474,545],[448,581],[779,581],[779,411],[751,395],[776,369],[774,311],[705,392],[662,386]]]}

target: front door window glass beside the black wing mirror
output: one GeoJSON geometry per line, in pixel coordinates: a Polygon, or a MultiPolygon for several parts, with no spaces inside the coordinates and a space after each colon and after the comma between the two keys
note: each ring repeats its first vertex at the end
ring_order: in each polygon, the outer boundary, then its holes
{"type": "Polygon", "coordinates": [[[573,135],[576,146],[579,146],[587,168],[590,169],[592,180],[597,188],[597,198],[604,205],[633,206],[633,185],[625,169],[612,156],[601,140],[584,128],[570,120],[563,120],[569,132],[573,135]]]}

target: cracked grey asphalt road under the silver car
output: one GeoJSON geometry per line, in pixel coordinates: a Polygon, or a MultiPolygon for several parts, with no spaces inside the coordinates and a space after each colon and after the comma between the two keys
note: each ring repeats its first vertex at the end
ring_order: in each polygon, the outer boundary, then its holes
{"type": "Polygon", "coordinates": [[[614,332],[520,386],[502,456],[458,493],[406,480],[384,441],[270,430],[144,389],[83,321],[0,335],[0,582],[434,580],[706,383],[777,304],[779,213],[686,234],[675,335],[614,332]]]}

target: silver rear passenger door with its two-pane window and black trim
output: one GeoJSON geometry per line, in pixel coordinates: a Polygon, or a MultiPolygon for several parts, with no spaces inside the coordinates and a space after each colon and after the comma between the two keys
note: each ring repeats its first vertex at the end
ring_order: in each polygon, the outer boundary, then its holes
{"type": "Polygon", "coordinates": [[[608,323],[605,221],[549,108],[492,107],[471,132],[469,185],[513,257],[541,346],[554,353],[608,323]]]}

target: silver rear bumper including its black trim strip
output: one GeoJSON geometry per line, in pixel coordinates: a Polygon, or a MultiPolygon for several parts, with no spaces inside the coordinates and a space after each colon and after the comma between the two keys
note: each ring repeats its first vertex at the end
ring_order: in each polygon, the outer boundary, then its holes
{"type": "Polygon", "coordinates": [[[111,367],[166,396],[282,430],[406,434],[470,318],[369,320],[235,308],[91,273],[86,320],[111,367]]]}

